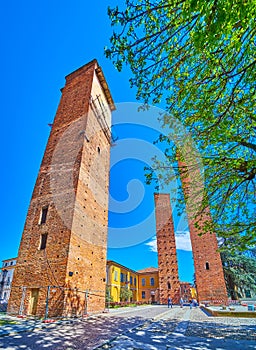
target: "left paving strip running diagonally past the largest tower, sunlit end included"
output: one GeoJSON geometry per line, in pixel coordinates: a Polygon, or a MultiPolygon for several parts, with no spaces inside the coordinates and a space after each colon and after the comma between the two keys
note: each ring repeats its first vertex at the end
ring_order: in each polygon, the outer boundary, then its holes
{"type": "MultiPolygon", "coordinates": [[[[60,324],[43,324],[45,328],[28,328],[23,332],[17,326],[10,327],[9,336],[0,337],[0,349],[74,350],[95,349],[110,339],[138,327],[147,320],[166,312],[166,306],[149,306],[113,310],[109,314],[60,324]]],[[[42,324],[41,324],[42,325],[42,324]]],[[[36,327],[39,327],[37,324],[36,327]]],[[[4,327],[1,327],[4,328],[4,327]]],[[[4,334],[4,333],[2,333],[4,334]]]]}

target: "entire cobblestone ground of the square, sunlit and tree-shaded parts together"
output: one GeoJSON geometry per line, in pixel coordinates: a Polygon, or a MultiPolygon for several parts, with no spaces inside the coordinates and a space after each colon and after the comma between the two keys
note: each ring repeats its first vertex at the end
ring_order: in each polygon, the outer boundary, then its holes
{"type": "Polygon", "coordinates": [[[251,350],[256,349],[256,319],[144,306],[0,337],[0,349],[251,350]]]}

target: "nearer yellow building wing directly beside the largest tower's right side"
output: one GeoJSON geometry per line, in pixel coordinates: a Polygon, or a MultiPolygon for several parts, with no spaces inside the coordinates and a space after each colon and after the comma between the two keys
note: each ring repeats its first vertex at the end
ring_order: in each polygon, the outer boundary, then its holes
{"type": "Polygon", "coordinates": [[[138,274],[115,261],[107,261],[107,287],[114,302],[138,301],[138,274]],[[130,300],[122,299],[122,289],[132,292],[130,300]]]}

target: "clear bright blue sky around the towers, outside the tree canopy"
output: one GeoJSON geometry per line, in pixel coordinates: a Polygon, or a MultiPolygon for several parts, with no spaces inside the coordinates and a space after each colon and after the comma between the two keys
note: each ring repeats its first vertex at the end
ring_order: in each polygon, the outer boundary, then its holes
{"type": "MultiPolygon", "coordinates": [[[[107,5],[120,3],[111,0],[107,5]]],[[[96,58],[103,68],[117,106],[129,111],[130,106],[127,108],[125,103],[136,102],[135,90],[129,86],[128,68],[118,73],[104,57],[104,46],[109,44],[112,33],[107,5],[104,1],[82,0],[25,0],[2,2],[0,5],[0,260],[17,255],[33,186],[50,132],[48,123],[55,116],[61,96],[60,88],[65,83],[64,77],[96,58]]],[[[158,127],[155,124],[145,126],[143,122],[134,125],[129,121],[129,113],[127,115],[123,122],[118,119],[118,115],[113,114],[118,141],[112,149],[110,170],[111,243],[108,257],[136,270],[157,266],[154,188],[145,185],[143,168],[155,150],[152,141],[157,136],[158,127]],[[142,144],[151,153],[146,158],[146,151],[141,155],[127,154],[120,160],[122,145],[127,142],[133,145],[134,150],[141,149],[142,144]],[[116,208],[123,208],[123,212],[120,213],[116,208]],[[150,220],[147,222],[148,217],[150,220]],[[143,224],[146,222],[146,226],[141,228],[144,233],[138,234],[136,227],[141,221],[143,224]],[[127,242],[125,228],[131,228],[136,239],[127,242]],[[116,247],[112,236],[115,234],[119,235],[116,247]]],[[[161,152],[161,149],[158,151],[161,152]]],[[[184,223],[177,217],[175,227],[180,233],[177,244],[182,248],[178,251],[180,277],[184,281],[192,281],[189,236],[184,223]]]]}

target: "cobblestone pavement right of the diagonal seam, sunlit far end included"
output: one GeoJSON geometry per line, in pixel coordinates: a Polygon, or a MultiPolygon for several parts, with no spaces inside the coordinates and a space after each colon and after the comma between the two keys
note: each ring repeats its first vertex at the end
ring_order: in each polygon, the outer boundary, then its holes
{"type": "Polygon", "coordinates": [[[199,308],[174,307],[98,349],[256,349],[256,319],[209,317],[199,308]]]}

